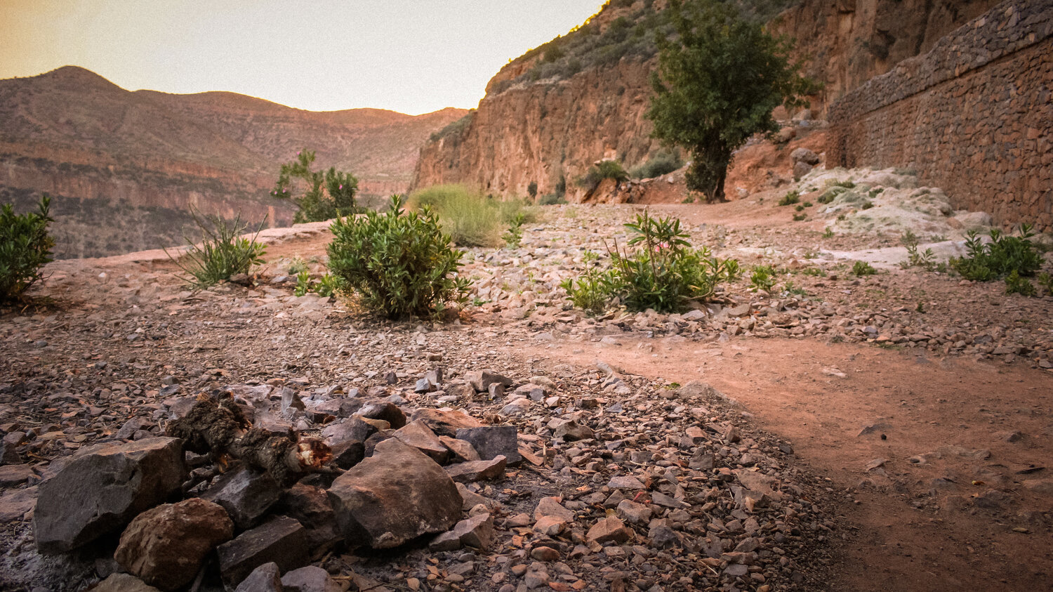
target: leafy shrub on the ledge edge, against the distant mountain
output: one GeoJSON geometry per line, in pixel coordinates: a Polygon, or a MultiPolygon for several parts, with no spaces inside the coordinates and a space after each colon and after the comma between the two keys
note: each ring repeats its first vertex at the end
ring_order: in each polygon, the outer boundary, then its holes
{"type": "Polygon", "coordinates": [[[296,153],[296,160],[281,165],[271,196],[292,199],[296,203],[297,212],[293,218],[295,223],[318,222],[357,213],[355,194],[358,193],[358,179],[351,173],[337,171],[333,166],[324,172],[312,171],[314,161],[314,151],[301,150],[296,153]],[[299,197],[295,195],[295,185],[299,184],[296,179],[305,186],[299,197]]]}

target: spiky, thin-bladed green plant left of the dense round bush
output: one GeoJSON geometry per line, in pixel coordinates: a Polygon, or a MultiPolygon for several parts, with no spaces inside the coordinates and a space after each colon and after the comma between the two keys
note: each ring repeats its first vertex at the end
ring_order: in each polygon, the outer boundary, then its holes
{"type": "Polygon", "coordinates": [[[263,228],[263,222],[256,226],[252,238],[241,236],[249,224],[241,221],[239,214],[233,222],[219,216],[205,216],[202,220],[197,213],[191,211],[194,221],[201,229],[201,244],[196,244],[191,238],[185,238],[188,249],[182,257],[175,258],[165,250],[165,254],[179,269],[190,277],[183,278],[197,290],[215,285],[236,274],[247,274],[254,263],[263,262],[266,248],[256,242],[256,237],[263,228]],[[186,260],[183,261],[183,258],[186,260]]]}

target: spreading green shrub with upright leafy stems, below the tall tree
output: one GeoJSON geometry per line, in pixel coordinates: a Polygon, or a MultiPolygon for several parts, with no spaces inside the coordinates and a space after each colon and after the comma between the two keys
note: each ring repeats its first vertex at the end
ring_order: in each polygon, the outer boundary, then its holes
{"type": "Polygon", "coordinates": [[[738,261],[718,259],[704,246],[692,249],[676,218],[644,212],[625,228],[633,236],[625,248],[617,242],[608,248],[610,270],[587,272],[561,284],[575,305],[598,311],[618,297],[631,311],[675,312],[710,298],[721,281],[738,276],[738,261]]]}

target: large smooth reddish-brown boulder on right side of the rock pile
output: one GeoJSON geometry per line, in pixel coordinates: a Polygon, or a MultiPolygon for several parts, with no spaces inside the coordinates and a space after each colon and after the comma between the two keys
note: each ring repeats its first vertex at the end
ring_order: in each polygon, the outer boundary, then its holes
{"type": "Polygon", "coordinates": [[[329,495],[353,546],[391,549],[448,531],[461,515],[460,493],[442,467],[394,438],[337,477],[329,495]]]}

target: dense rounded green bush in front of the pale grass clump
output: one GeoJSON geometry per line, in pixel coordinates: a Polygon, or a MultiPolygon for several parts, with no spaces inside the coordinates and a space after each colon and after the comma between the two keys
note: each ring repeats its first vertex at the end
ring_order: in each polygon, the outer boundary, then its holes
{"type": "Polygon", "coordinates": [[[402,212],[402,197],[385,213],[336,219],[329,267],[343,290],[391,319],[441,313],[468,300],[469,280],[457,276],[463,253],[450,245],[431,208],[402,212]]]}

